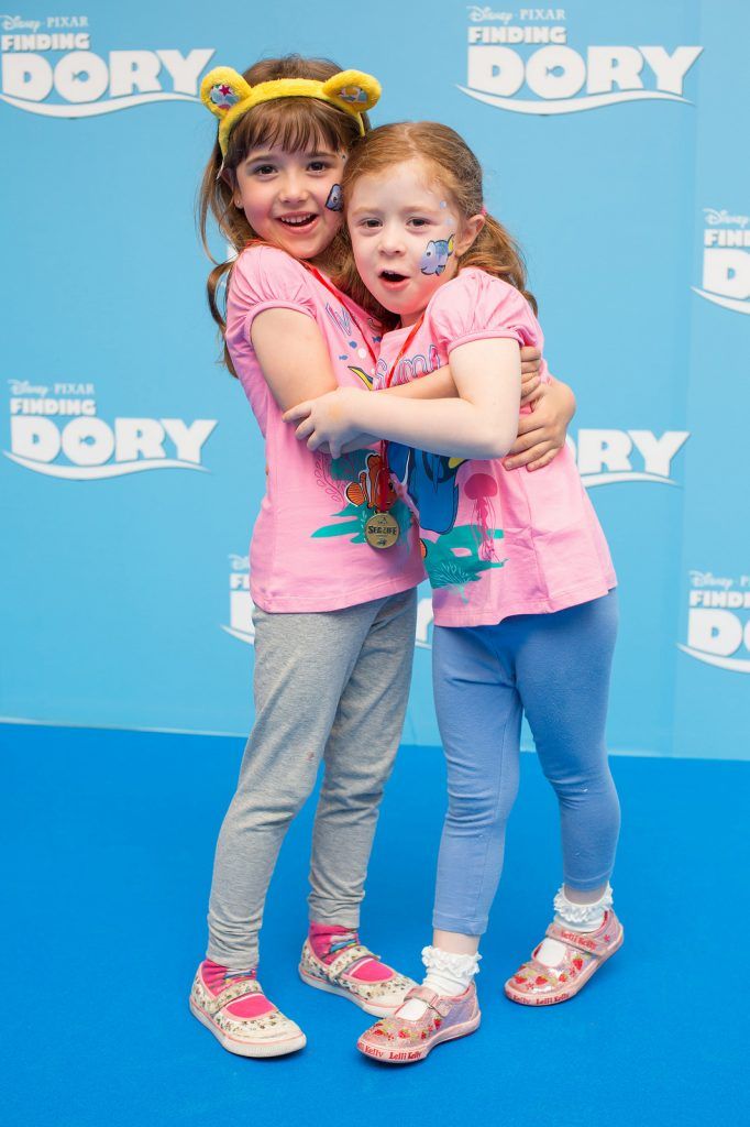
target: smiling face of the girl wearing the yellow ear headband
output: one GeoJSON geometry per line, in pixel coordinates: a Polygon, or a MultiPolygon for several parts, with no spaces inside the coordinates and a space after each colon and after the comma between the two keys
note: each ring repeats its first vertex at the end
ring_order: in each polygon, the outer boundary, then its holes
{"type": "Polygon", "coordinates": [[[341,225],[345,159],[328,145],[252,149],[235,169],[234,203],[260,239],[295,258],[316,258],[341,225]]]}

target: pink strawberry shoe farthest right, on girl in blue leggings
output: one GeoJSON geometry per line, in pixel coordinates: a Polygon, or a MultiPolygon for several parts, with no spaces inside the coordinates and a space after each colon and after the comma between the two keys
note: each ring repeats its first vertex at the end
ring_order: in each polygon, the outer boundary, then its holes
{"type": "Polygon", "coordinates": [[[610,909],[605,912],[597,931],[569,931],[559,923],[551,923],[547,935],[564,946],[562,962],[556,967],[539,962],[536,958],[539,948],[535,948],[530,960],[519,967],[506,983],[506,994],[511,1002],[520,1002],[521,1005],[556,1005],[557,1002],[566,1002],[623,946],[624,931],[610,909]]]}

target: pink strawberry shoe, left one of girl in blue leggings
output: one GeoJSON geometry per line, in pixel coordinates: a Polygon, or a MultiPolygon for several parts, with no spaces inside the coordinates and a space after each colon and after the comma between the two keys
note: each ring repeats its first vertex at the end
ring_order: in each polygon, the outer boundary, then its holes
{"type": "Polygon", "coordinates": [[[383,1064],[414,1064],[423,1061],[441,1041],[466,1037],[479,1028],[481,1013],[474,983],[456,997],[414,986],[405,1001],[413,997],[425,1002],[425,1014],[417,1021],[407,1021],[398,1014],[382,1018],[357,1041],[360,1053],[383,1064]]]}

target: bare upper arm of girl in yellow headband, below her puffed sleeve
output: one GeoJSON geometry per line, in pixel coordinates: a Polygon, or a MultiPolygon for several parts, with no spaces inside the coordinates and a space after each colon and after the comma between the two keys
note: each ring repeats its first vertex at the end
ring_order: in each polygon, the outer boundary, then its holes
{"type": "Polygon", "coordinates": [[[264,310],[252,322],[250,339],[266,383],[283,411],[337,387],[323,334],[306,313],[264,310]]]}

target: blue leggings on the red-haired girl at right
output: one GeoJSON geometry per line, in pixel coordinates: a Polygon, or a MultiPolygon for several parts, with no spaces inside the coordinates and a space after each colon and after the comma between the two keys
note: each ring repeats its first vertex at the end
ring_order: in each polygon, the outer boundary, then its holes
{"type": "Polygon", "coordinates": [[[435,706],[448,764],[435,928],[486,930],[518,792],[523,712],[560,802],[565,882],[592,889],[608,880],[619,832],[605,746],[616,632],[614,591],[555,614],[435,628],[435,706]]]}

